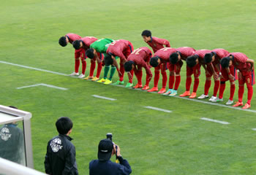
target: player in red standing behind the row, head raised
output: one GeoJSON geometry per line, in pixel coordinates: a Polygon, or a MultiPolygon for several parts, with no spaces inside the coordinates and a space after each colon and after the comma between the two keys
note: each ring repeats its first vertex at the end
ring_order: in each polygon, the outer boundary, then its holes
{"type": "Polygon", "coordinates": [[[144,42],[146,42],[150,47],[152,47],[154,53],[157,50],[160,50],[165,47],[170,47],[170,42],[167,39],[159,39],[157,37],[151,36],[151,31],[145,30],[142,32],[141,36],[143,36],[144,42]]]}

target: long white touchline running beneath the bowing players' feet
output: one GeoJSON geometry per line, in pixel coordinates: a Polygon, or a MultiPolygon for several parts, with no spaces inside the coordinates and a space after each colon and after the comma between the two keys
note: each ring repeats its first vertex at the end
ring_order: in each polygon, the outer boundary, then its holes
{"type": "MultiPolygon", "coordinates": [[[[23,68],[26,68],[26,69],[33,69],[33,70],[37,70],[37,71],[45,71],[45,72],[48,72],[48,73],[51,73],[51,74],[59,74],[59,75],[68,76],[68,74],[62,74],[62,73],[59,73],[59,72],[56,72],[56,71],[48,71],[48,70],[45,70],[45,69],[37,69],[37,68],[29,67],[29,66],[23,66],[23,65],[20,65],[20,64],[9,63],[9,62],[6,62],[6,61],[0,61],[0,63],[9,64],[9,65],[12,65],[12,66],[19,66],[19,67],[23,67],[23,68]]],[[[73,76],[70,76],[70,77],[73,77],[73,76]]],[[[124,85],[118,85],[118,86],[121,87],[121,88],[125,88],[124,85]]],[[[146,90],[141,90],[141,91],[147,92],[146,90]]],[[[252,110],[252,109],[241,109],[241,108],[236,108],[236,107],[233,107],[233,106],[227,106],[227,105],[224,105],[224,104],[215,104],[215,103],[211,103],[211,102],[208,102],[208,101],[200,101],[200,100],[196,100],[196,99],[179,97],[179,96],[174,96],[174,97],[175,98],[182,98],[184,100],[189,100],[189,101],[196,101],[196,102],[199,102],[199,103],[202,103],[202,104],[210,104],[210,105],[225,107],[225,108],[229,108],[229,109],[236,109],[236,110],[256,113],[256,110],[252,110]]],[[[172,97],[170,97],[170,98],[172,98],[172,97]]]]}

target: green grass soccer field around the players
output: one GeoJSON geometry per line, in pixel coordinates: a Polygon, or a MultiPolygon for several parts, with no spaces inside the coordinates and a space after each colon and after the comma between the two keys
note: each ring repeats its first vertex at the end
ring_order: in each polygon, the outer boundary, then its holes
{"type": "MultiPolygon", "coordinates": [[[[80,36],[127,39],[136,49],[147,46],[140,36],[144,29],[151,30],[153,36],[168,39],[171,47],[189,46],[197,50],[222,47],[230,52],[244,52],[256,61],[255,5],[255,0],[1,1],[0,61],[70,74],[74,50],[70,44],[59,46],[60,36],[71,32],[80,36]]],[[[89,61],[87,65],[86,75],[89,61]]],[[[89,174],[89,162],[97,158],[99,140],[105,139],[108,132],[113,133],[113,141],[129,160],[132,174],[255,174],[254,112],[4,63],[0,63],[0,70],[0,104],[18,106],[33,114],[34,168],[39,171],[44,171],[47,142],[57,134],[54,125],[57,118],[68,116],[74,123],[71,136],[80,174],[89,174]],[[69,90],[42,86],[16,89],[38,83],[69,90]],[[117,101],[94,98],[94,94],[117,101]],[[200,120],[201,117],[230,125],[200,120]]],[[[179,94],[185,90],[185,71],[183,68],[181,72],[179,94]]],[[[116,74],[113,80],[117,79],[116,74]]],[[[197,95],[203,93],[204,81],[202,71],[197,95]]],[[[152,87],[153,81],[150,85],[152,87]]],[[[227,82],[225,101],[229,87],[227,82]]],[[[246,93],[245,88],[244,102],[246,93]]],[[[256,110],[255,96],[251,109],[256,110]]]]}

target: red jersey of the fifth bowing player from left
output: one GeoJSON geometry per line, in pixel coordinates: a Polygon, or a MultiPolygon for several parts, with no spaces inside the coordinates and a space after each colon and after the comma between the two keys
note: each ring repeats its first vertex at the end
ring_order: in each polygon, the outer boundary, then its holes
{"type": "Polygon", "coordinates": [[[142,66],[146,69],[146,73],[152,76],[150,68],[146,63],[150,60],[151,56],[152,52],[148,47],[140,47],[128,56],[127,61],[133,61],[135,65],[142,66]]]}

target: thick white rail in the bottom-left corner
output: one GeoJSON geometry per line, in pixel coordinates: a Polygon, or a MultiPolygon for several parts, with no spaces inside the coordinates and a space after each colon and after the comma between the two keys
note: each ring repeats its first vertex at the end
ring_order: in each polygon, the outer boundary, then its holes
{"type": "Polygon", "coordinates": [[[36,171],[26,166],[21,166],[18,163],[13,163],[10,160],[0,158],[0,174],[4,175],[45,175],[42,172],[36,171]]]}

